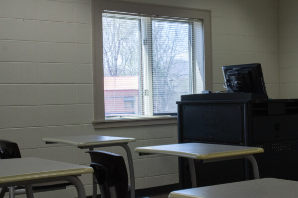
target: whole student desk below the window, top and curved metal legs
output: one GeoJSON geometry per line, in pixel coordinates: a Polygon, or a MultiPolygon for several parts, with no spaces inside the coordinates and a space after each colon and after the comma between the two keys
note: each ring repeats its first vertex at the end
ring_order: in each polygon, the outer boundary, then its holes
{"type": "MultiPolygon", "coordinates": [[[[134,138],[122,138],[122,137],[112,137],[112,136],[96,136],[96,135],[86,135],[86,136],[68,136],[68,137],[57,137],[57,138],[43,138],[42,141],[46,142],[46,144],[52,143],[61,143],[67,145],[73,145],[78,148],[88,148],[89,150],[93,150],[93,148],[99,147],[113,147],[120,146],[126,150],[128,165],[129,165],[129,173],[131,180],[131,198],[135,198],[135,175],[134,175],[134,166],[133,166],[133,158],[130,148],[128,147],[129,142],[136,142],[134,138]]],[[[93,196],[92,198],[96,198],[97,190],[96,190],[96,182],[94,182],[95,178],[93,177],[93,196]]]]}

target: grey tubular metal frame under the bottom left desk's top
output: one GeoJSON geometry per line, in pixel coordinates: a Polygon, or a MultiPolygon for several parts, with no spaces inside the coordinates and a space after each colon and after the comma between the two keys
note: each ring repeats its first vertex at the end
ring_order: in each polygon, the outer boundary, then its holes
{"type": "Polygon", "coordinates": [[[75,175],[60,176],[60,177],[47,177],[47,178],[41,178],[41,179],[23,180],[23,181],[17,181],[17,182],[3,183],[3,184],[0,184],[0,188],[25,185],[27,198],[34,198],[31,184],[54,182],[54,181],[68,181],[68,182],[72,183],[72,185],[74,185],[74,187],[77,191],[77,197],[78,198],[86,198],[84,186],[83,186],[82,182],[75,175]]]}

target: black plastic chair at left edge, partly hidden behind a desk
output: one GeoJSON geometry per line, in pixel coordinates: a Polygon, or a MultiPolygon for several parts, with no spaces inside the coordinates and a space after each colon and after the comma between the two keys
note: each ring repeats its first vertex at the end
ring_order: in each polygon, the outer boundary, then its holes
{"type": "MultiPolygon", "coordinates": [[[[21,158],[20,150],[16,143],[8,140],[0,140],[0,159],[21,158]]],[[[66,189],[66,186],[71,185],[69,182],[46,182],[42,184],[32,185],[33,193],[66,189]]],[[[14,198],[14,195],[26,194],[24,186],[2,188],[0,198],[3,198],[5,193],[9,192],[9,198],[14,198]]]]}

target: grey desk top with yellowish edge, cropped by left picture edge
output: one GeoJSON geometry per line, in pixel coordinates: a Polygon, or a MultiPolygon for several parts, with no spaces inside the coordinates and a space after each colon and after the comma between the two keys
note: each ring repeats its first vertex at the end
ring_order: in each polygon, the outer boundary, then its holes
{"type": "Polygon", "coordinates": [[[1,159],[0,184],[92,173],[88,166],[34,157],[1,159]]]}

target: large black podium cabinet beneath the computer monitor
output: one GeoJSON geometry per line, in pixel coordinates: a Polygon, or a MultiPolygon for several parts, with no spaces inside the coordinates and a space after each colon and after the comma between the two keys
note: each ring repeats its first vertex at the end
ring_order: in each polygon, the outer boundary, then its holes
{"type": "MultiPolygon", "coordinates": [[[[264,148],[255,154],[260,178],[298,180],[298,99],[268,99],[251,93],[181,96],[178,142],[264,148]]],[[[195,163],[198,186],[252,178],[245,160],[195,163]]],[[[190,188],[188,162],[179,159],[179,184],[190,188]]]]}

